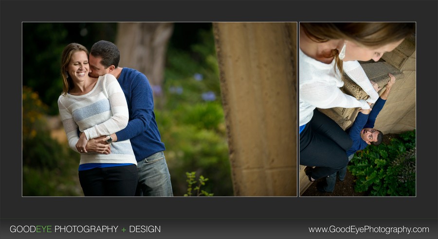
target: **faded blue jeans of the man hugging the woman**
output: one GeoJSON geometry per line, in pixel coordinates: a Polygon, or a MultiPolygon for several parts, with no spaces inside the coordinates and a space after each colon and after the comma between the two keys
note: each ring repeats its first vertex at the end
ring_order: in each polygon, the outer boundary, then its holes
{"type": "Polygon", "coordinates": [[[138,185],[135,196],[173,196],[170,174],[163,151],[137,162],[138,185]]]}

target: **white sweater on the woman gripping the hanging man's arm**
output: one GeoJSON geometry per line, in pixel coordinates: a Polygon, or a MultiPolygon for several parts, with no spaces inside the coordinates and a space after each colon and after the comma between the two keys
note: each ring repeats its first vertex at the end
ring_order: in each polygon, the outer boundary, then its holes
{"type": "MultiPolygon", "coordinates": [[[[325,64],[309,57],[300,49],[299,61],[300,126],[312,119],[313,110],[316,107],[322,109],[333,107],[369,109],[365,100],[357,100],[340,90],[344,82],[339,69],[335,68],[335,60],[330,64],[325,64]]],[[[359,62],[344,62],[343,68],[347,75],[370,96],[367,101],[376,102],[379,94],[374,90],[359,62]]]]}

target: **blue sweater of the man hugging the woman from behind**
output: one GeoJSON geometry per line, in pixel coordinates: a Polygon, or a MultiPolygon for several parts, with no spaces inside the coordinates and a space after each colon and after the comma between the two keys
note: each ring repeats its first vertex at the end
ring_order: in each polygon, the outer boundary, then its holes
{"type": "Polygon", "coordinates": [[[117,132],[117,141],[130,139],[138,161],[164,151],[164,143],[155,121],[152,88],[146,76],[138,70],[122,68],[117,79],[128,102],[128,126],[117,132]]]}

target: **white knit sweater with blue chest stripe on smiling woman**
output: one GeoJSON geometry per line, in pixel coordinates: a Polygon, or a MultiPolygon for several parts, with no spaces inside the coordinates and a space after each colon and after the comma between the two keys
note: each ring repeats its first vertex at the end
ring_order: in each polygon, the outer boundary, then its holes
{"type": "MultiPolygon", "coordinates": [[[[87,139],[111,135],[128,125],[128,104],[117,79],[106,74],[100,76],[93,89],[84,95],[66,94],[58,98],[59,115],[67,134],[69,146],[77,152],[77,129],[87,139]]],[[[137,164],[128,140],[111,143],[110,154],[81,154],[79,164],[133,163],[137,164]]]]}

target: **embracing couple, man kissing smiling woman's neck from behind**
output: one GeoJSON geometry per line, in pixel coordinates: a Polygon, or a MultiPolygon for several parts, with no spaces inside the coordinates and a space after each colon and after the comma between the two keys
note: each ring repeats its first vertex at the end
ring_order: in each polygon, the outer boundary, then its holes
{"type": "Polygon", "coordinates": [[[120,52],[98,41],[71,43],[61,57],[58,108],[67,139],[81,154],[85,196],[173,196],[152,88],[138,70],[118,67],[120,52]]]}

